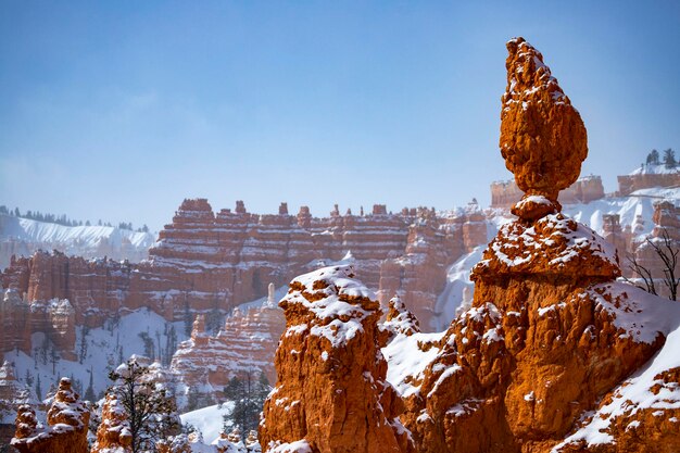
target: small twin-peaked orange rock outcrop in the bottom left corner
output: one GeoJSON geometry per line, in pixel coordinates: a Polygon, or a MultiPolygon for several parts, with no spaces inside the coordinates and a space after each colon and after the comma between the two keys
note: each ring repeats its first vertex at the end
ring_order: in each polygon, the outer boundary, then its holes
{"type": "Polygon", "coordinates": [[[23,405],[16,416],[16,432],[11,444],[21,453],[87,453],[89,419],[90,412],[71,389],[71,379],[62,378],[47,413],[47,427],[38,424],[29,405],[23,405]]]}

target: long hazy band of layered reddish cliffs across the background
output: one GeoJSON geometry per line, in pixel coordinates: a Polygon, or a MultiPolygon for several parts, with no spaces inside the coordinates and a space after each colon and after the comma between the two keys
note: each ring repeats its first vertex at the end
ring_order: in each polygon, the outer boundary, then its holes
{"type": "Polygon", "coordinates": [[[269,282],[280,287],[350,251],[364,281],[380,290],[380,301],[387,305],[399,292],[411,310],[419,310],[428,329],[445,266],[486,241],[486,228],[476,204],[444,214],[423,207],[391,214],[375,205],[367,215],[333,210],[317,218],[304,206],[297,216],[286,205],[277,215],[257,215],[239,202],[234,212],[215,214],[204,199],[185,200],[149,261],[85,260],[61,252],[14,259],[1,276],[3,288],[14,292],[0,310],[0,324],[14,328],[0,334],[0,350],[30,354],[30,336],[40,331],[62,357],[73,358],[75,326],[99,327],[140,307],[167,320],[184,319],[187,312],[224,316],[265,295],[269,282]]]}

